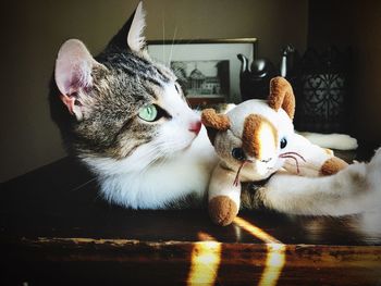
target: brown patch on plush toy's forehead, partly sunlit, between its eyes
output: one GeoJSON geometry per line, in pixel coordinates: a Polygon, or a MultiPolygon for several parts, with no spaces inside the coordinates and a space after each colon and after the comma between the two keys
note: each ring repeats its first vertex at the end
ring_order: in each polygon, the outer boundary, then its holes
{"type": "Polygon", "coordinates": [[[245,119],[243,148],[248,156],[263,159],[265,148],[271,152],[278,145],[278,132],[270,121],[258,114],[245,119]]]}

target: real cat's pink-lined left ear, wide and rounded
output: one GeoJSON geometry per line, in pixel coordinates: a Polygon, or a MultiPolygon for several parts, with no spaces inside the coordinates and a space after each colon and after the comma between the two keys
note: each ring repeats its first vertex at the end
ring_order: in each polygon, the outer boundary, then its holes
{"type": "Polygon", "coordinates": [[[56,61],[54,79],[61,100],[77,120],[83,117],[83,102],[79,94],[87,94],[93,87],[91,71],[102,66],[77,39],[66,40],[60,48],[56,61]]]}

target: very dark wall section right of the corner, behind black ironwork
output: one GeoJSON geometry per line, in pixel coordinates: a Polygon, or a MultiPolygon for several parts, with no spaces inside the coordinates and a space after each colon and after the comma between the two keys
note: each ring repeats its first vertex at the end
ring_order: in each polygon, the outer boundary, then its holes
{"type": "Polygon", "coordinates": [[[381,145],[381,1],[310,0],[309,47],[353,48],[353,130],[381,145]]]}

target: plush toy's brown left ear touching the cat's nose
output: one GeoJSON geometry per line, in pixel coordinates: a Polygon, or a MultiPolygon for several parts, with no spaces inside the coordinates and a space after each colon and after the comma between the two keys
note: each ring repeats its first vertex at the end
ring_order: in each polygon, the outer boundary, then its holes
{"type": "Polygon", "coordinates": [[[201,113],[201,122],[207,127],[210,142],[214,144],[218,132],[225,132],[230,128],[230,120],[226,114],[217,114],[213,109],[206,109],[201,113]]]}

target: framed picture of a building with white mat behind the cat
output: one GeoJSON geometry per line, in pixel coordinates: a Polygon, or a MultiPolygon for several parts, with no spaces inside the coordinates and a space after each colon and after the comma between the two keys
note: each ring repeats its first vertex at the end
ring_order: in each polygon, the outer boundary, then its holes
{"type": "Polygon", "coordinates": [[[197,103],[241,102],[237,54],[256,57],[256,38],[214,40],[151,40],[148,53],[170,66],[185,96],[197,103]]]}

